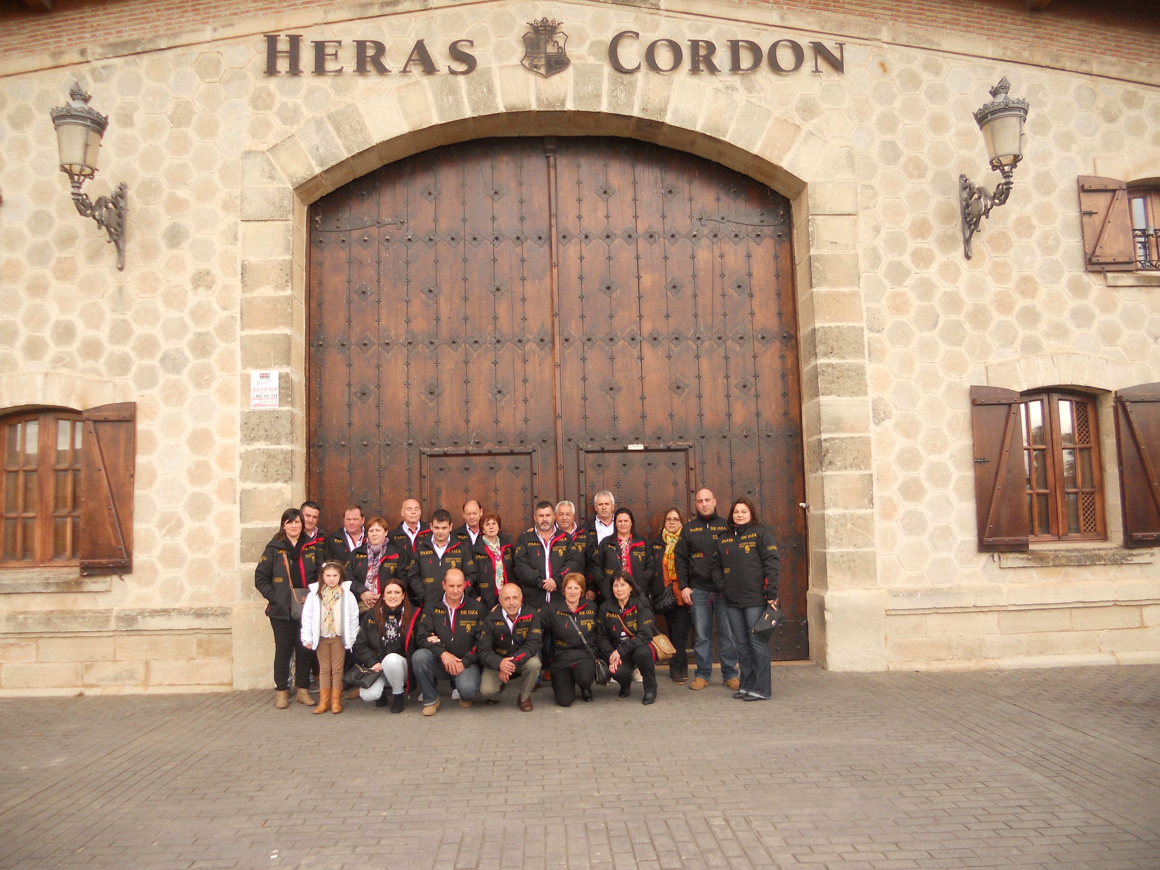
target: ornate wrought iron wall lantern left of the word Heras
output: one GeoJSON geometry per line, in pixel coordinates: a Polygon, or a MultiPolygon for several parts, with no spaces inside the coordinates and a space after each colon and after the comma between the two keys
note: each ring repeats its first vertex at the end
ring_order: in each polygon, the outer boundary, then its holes
{"type": "Polygon", "coordinates": [[[74,84],[68,92],[72,102],[51,110],[52,125],[57,129],[57,150],[60,152],[60,172],[72,183],[73,204],[82,217],[90,217],[109,233],[109,241],[117,248],[117,268],[125,268],[125,212],[129,188],[124,182],[111,196],[88,198],[81,186],[96,175],[96,155],[109,118],[88,104],[92,99],[74,84]]]}

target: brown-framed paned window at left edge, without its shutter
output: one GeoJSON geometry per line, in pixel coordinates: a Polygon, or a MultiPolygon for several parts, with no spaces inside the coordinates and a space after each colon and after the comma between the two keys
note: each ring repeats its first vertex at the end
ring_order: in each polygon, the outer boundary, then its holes
{"type": "Polygon", "coordinates": [[[77,564],[80,414],[56,409],[10,414],[0,420],[0,567],[77,564]]]}

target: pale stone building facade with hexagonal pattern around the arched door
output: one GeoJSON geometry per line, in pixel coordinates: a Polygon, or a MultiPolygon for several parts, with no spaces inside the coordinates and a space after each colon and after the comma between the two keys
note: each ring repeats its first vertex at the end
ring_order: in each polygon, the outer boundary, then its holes
{"type": "Polygon", "coordinates": [[[131,572],[0,566],[0,694],[270,684],[253,570],[282,509],[307,494],[307,206],[392,161],[495,136],[640,139],[791,201],[819,665],[1160,660],[1160,564],[1123,545],[1114,421],[1116,391],[1160,382],[1160,271],[1089,268],[1076,182],[1160,183],[1148,38],[1138,23],[1078,24],[1050,8],[963,2],[942,19],[954,5],[915,3],[887,20],[873,3],[826,6],[9,13],[0,412],[136,403],[137,425],[131,572]],[[571,61],[549,77],[521,65],[525,22],[544,16],[561,22],[571,61]],[[996,21],[1008,26],[994,34],[996,21]],[[1099,31],[1103,53],[1082,30],[1099,31]],[[616,58],[640,61],[632,73],[609,58],[625,31],[637,36],[616,58]],[[268,49],[289,52],[292,35],[302,74],[289,53],[268,74],[268,49]],[[644,63],[655,39],[684,46],[672,72],[644,63]],[[719,72],[690,71],[697,39],[716,45],[719,72]],[[781,68],[732,72],[731,39],[790,42],[781,68]],[[356,41],[380,43],[391,72],[355,72],[356,41]],[[433,73],[421,57],[401,71],[419,41],[433,73]],[[458,43],[470,72],[456,41],[470,41],[458,43]],[[1002,77],[1031,107],[1024,159],[967,260],[958,175],[993,184],[971,114],[1002,77]],[[86,189],[129,187],[123,271],[58,168],[49,110],[73,81],[109,116],[86,189]],[[249,409],[259,370],[280,372],[277,409],[249,409]],[[1104,541],[980,552],[980,385],[1094,397],[1104,541]]]}

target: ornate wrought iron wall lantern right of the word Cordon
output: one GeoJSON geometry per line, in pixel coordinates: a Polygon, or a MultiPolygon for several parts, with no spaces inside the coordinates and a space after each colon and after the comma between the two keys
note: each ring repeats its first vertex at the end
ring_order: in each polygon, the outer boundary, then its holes
{"type": "Polygon", "coordinates": [[[991,88],[989,103],[974,113],[974,121],[983,131],[983,140],[987,145],[987,158],[993,172],[1002,175],[1002,181],[995,186],[995,191],[988,194],[986,188],[978,187],[966,175],[958,176],[958,200],[963,212],[963,253],[971,259],[971,237],[979,229],[983,218],[991,210],[1007,202],[1012,193],[1012,176],[1015,166],[1023,159],[1023,122],[1027,121],[1027,100],[1012,100],[1007,96],[1012,84],[1006,77],[991,88]]]}

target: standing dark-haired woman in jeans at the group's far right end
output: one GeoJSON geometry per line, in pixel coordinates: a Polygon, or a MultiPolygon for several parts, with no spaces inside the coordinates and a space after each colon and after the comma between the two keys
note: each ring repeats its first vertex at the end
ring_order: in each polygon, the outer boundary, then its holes
{"type": "Polygon", "coordinates": [[[773,667],[769,638],[755,635],[767,607],[777,607],[777,578],[782,561],[774,532],[757,520],[757,509],[746,498],[733,502],[733,524],[717,539],[712,572],[717,594],[725,599],[730,629],[741,661],[741,687],[733,697],[769,701],[773,667]]]}

